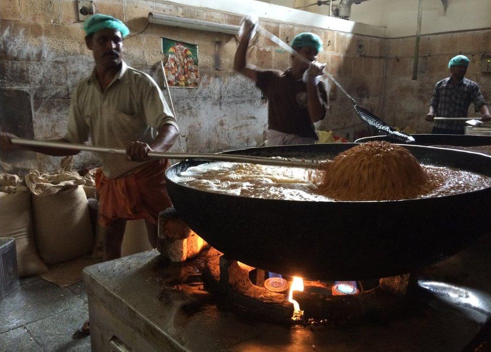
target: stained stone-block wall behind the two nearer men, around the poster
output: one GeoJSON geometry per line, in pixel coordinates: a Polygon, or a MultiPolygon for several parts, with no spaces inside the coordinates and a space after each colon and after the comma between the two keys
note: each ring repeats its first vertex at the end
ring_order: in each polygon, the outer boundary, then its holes
{"type": "MultiPolygon", "coordinates": [[[[231,13],[160,1],[99,0],[96,4],[100,13],[124,20],[131,30],[130,35],[145,29],[149,12],[234,25],[241,18],[231,13]]],[[[82,26],[76,20],[76,3],[72,0],[3,0],[0,3],[0,88],[29,94],[35,138],[63,136],[70,91],[92,69],[91,52],[85,47],[82,26]]],[[[385,53],[383,39],[275,21],[261,24],[286,42],[303,31],[320,35],[325,51],[319,55],[319,61],[328,63],[330,72],[346,85],[360,105],[378,110],[383,72],[383,60],[378,57],[385,53]],[[356,50],[359,40],[364,44],[362,54],[376,58],[359,56],[356,50]]],[[[254,84],[232,70],[236,38],[149,25],[142,34],[125,40],[125,57],[130,65],[149,73],[157,82],[162,79],[160,37],[199,45],[200,86],[171,89],[185,149],[216,152],[261,145],[267,125],[267,105],[254,84]]],[[[250,48],[249,61],[265,68],[285,69],[289,55],[259,36],[250,48]]],[[[350,140],[366,133],[351,103],[336,90],[333,95],[330,111],[320,129],[333,129],[350,140]]],[[[17,102],[11,101],[11,104],[15,106],[17,102]]],[[[37,160],[26,167],[51,170],[56,168],[58,160],[37,154],[37,160]]],[[[95,164],[97,159],[90,153],[81,153],[76,158],[76,167],[95,164]]]]}

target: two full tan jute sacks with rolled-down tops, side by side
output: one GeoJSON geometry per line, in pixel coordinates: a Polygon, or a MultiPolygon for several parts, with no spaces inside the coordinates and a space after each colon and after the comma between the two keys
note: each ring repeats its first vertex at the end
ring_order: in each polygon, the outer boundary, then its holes
{"type": "Polygon", "coordinates": [[[0,174],[0,237],[16,240],[19,276],[41,274],[47,266],[92,253],[86,191],[95,190],[94,180],[70,166],[64,158],[60,170],[34,170],[24,180],[0,174]]]}

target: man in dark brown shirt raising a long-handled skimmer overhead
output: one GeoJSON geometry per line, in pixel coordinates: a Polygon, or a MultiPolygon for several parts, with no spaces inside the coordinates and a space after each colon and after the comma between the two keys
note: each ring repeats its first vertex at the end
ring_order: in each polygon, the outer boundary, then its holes
{"type": "Polygon", "coordinates": [[[247,64],[247,49],[255,24],[246,19],[233,68],[256,82],[268,98],[268,145],[312,144],[318,139],[314,122],[324,118],[328,102],[320,79],[324,65],[316,62],[322,41],[314,33],[300,33],[290,43],[309,62],[291,56],[285,72],[247,64]]]}

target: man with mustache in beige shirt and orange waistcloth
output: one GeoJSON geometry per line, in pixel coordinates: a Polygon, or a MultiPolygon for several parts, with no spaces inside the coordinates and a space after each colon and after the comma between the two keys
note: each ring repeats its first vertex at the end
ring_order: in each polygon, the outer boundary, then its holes
{"type": "MultiPolygon", "coordinates": [[[[95,66],[74,88],[64,138],[54,141],[124,148],[127,155],[99,155],[96,174],[100,224],[104,228],[104,259],[121,257],[126,221],[144,219],[148,239],[155,247],[157,216],[171,206],[164,171],[167,160],[150,160],[148,152],[166,151],[178,136],[178,125],[162,92],[146,73],[122,59],[123,38],[129,29],[120,20],[102,14],[84,23],[86,45],[95,66]]],[[[12,134],[0,134],[0,149],[19,146],[12,134]]],[[[30,147],[48,155],[73,155],[69,149],[30,147]]]]}

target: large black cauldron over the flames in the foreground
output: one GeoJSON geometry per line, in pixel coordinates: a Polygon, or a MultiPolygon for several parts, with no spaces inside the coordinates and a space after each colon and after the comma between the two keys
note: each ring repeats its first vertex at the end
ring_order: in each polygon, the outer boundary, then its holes
{"type": "MultiPolygon", "coordinates": [[[[228,153],[333,158],[353,143],[250,148],[228,153]]],[[[491,157],[407,145],[421,162],[491,176],[491,157]]],[[[205,162],[205,161],[203,161],[205,162]]],[[[303,202],[199,191],[173,182],[203,162],[167,171],[174,207],[228,257],[309,279],[360,280],[412,272],[451,256],[491,229],[491,188],[450,197],[383,202],[303,202]]]]}

